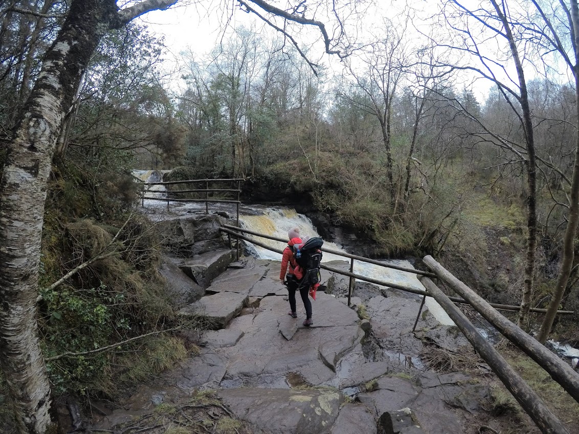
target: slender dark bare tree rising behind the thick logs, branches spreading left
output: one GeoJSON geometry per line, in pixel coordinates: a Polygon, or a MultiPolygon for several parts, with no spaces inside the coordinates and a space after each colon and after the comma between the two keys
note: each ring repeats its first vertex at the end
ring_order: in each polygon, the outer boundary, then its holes
{"type": "Polygon", "coordinates": [[[537,164],[527,79],[525,68],[523,68],[523,62],[527,60],[525,57],[527,53],[520,52],[521,34],[514,31],[516,20],[511,16],[511,10],[505,1],[499,3],[496,0],[490,0],[489,3],[476,9],[469,9],[459,1],[449,0],[443,3],[442,16],[457,39],[452,42],[444,41],[441,45],[453,51],[456,50],[463,56],[468,56],[468,60],[474,58],[478,61],[478,65],[468,65],[463,62],[462,64],[446,64],[444,66],[450,66],[451,70],[472,71],[491,80],[512,108],[521,127],[522,137],[518,139],[516,137],[500,137],[481,124],[485,130],[484,134],[490,135],[490,141],[510,150],[525,165],[527,178],[527,251],[525,281],[518,319],[519,325],[525,325],[533,293],[537,246],[537,164]],[[499,45],[498,53],[488,54],[486,52],[484,49],[486,38],[497,38],[495,41],[499,45]],[[507,59],[514,63],[515,78],[511,79],[508,75],[508,71],[503,65],[503,59],[497,58],[501,54],[505,54],[507,59]]]}

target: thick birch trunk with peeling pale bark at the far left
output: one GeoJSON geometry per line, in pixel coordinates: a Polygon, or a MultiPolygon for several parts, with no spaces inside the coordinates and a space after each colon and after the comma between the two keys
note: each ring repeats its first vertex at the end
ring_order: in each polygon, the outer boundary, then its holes
{"type": "Polygon", "coordinates": [[[145,2],[118,12],[112,0],[73,1],[12,134],[0,179],[0,368],[22,434],[44,434],[50,424],[50,384],[38,340],[36,296],[46,185],[56,141],[102,36],[146,12],[146,6],[151,10],[151,4],[163,6],[145,2]]]}

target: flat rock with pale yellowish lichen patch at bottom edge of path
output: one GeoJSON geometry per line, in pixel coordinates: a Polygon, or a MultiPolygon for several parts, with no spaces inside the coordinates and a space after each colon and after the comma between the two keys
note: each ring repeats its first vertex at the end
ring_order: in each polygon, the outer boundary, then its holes
{"type": "Polygon", "coordinates": [[[225,389],[223,403],[242,420],[273,434],[328,434],[342,393],[291,389],[225,389]]]}

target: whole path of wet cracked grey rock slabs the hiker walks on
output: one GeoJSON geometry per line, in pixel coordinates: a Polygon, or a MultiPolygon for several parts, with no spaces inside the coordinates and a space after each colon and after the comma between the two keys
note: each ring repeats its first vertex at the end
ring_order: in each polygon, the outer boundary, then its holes
{"type": "MultiPolygon", "coordinates": [[[[184,222],[171,225],[182,229],[184,222]]],[[[183,230],[174,229],[168,244],[184,237],[183,230]]],[[[178,249],[183,251],[182,243],[178,249]]],[[[197,251],[189,259],[168,258],[163,272],[168,289],[184,305],[179,313],[211,330],[186,333],[199,345],[199,354],[142,385],[119,409],[97,420],[94,432],[137,432],[127,424],[163,406],[183,413],[184,403],[201,391],[214,391],[217,407],[243,421],[246,432],[477,432],[469,420],[488,390],[464,374],[442,375],[422,366],[424,339],[455,349],[465,341],[452,327],[439,325],[427,309],[413,333],[419,299],[358,284],[354,306],[348,307],[340,297],[346,279],[325,273],[328,293],[318,292],[312,301],[314,325],[305,328],[301,300],[298,319],[287,315],[279,262],[249,258],[225,269],[227,258],[229,251],[216,250],[197,251]],[[205,295],[199,298],[201,293],[205,295]],[[369,321],[358,316],[361,305],[369,321]]],[[[147,432],[169,432],[166,425],[157,425],[147,432]]],[[[216,423],[207,432],[236,431],[219,431],[216,423]]]]}

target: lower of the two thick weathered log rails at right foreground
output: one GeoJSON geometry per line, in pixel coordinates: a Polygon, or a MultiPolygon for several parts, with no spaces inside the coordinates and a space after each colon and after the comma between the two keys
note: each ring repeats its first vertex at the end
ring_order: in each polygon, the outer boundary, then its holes
{"type": "Polygon", "coordinates": [[[539,398],[537,393],[518,376],[511,365],[494,349],[493,345],[482,337],[463,312],[450,301],[448,296],[429,278],[424,277],[421,281],[428,293],[438,301],[438,304],[446,311],[450,319],[455,322],[460,331],[464,333],[464,336],[477,350],[478,354],[488,363],[490,369],[497,374],[497,377],[500,378],[517,402],[521,404],[523,410],[532,418],[541,432],[544,434],[569,434],[565,425],[551,413],[551,410],[539,398]]]}

